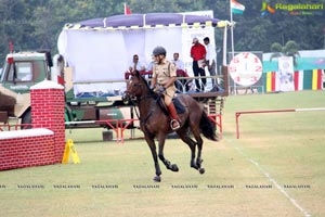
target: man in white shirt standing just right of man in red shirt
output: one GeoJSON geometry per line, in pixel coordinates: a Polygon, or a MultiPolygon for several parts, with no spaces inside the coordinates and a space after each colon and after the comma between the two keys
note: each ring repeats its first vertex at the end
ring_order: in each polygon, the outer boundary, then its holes
{"type": "MultiPolygon", "coordinates": [[[[216,53],[213,47],[210,43],[209,37],[205,37],[204,42],[206,44],[206,50],[207,50],[206,65],[208,66],[208,71],[210,73],[210,76],[216,76],[216,56],[217,56],[217,53],[216,53]]],[[[212,88],[213,91],[218,91],[218,84],[217,84],[216,78],[212,78],[212,87],[213,87],[212,88]]]]}

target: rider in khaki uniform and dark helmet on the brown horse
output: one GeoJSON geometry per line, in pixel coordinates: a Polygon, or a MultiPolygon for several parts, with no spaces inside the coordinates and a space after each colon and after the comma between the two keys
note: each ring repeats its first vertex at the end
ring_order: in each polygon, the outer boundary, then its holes
{"type": "Polygon", "coordinates": [[[170,127],[176,130],[180,128],[179,116],[172,103],[176,92],[174,81],[177,79],[177,68],[174,64],[166,60],[166,49],[156,47],[153,51],[156,64],[153,67],[152,88],[155,92],[162,92],[165,104],[171,116],[170,127]]]}

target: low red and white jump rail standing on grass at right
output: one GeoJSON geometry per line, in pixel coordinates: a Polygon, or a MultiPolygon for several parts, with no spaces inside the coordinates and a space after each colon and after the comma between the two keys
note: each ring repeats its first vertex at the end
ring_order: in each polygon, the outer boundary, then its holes
{"type": "Polygon", "coordinates": [[[239,116],[244,114],[258,114],[258,113],[281,113],[281,112],[313,112],[325,111],[325,107],[311,107],[311,108],[288,108],[288,110],[260,110],[260,111],[239,111],[236,112],[236,136],[239,139],[239,116]]]}

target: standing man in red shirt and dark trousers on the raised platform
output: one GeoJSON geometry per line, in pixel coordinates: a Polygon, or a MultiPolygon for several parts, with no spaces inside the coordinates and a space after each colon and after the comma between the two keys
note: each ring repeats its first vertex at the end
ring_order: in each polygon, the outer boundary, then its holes
{"type": "MultiPolygon", "coordinates": [[[[206,61],[206,47],[198,42],[197,38],[193,38],[193,46],[191,48],[191,58],[193,59],[193,73],[195,77],[198,76],[206,76],[205,72],[205,61],[206,61]]],[[[205,90],[205,86],[207,84],[206,78],[200,78],[202,84],[199,79],[195,79],[196,89],[199,91],[205,90]]]]}

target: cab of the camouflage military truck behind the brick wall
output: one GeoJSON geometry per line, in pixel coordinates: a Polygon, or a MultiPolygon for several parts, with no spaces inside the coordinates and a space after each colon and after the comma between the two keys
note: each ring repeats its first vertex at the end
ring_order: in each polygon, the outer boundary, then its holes
{"type": "Polygon", "coordinates": [[[6,55],[0,80],[0,123],[8,123],[8,117],[30,123],[29,88],[50,78],[49,56],[47,51],[6,55]]]}

